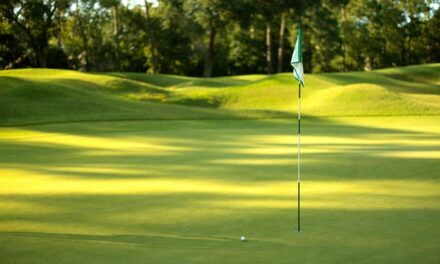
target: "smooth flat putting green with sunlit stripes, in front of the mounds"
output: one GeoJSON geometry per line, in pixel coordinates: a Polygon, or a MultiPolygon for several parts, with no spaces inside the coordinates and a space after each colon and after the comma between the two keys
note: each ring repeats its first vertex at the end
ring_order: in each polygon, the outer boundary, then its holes
{"type": "Polygon", "coordinates": [[[438,116],[306,118],[300,234],[295,124],[2,128],[1,263],[440,260],[438,116]]]}

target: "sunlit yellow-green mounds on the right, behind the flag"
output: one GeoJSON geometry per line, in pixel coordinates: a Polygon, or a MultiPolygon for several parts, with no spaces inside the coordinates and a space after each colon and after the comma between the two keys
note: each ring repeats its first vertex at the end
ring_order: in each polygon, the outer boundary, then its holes
{"type": "MultiPolygon", "coordinates": [[[[440,85],[436,81],[440,65],[409,68],[308,75],[302,93],[303,113],[313,116],[440,114],[440,85]]],[[[231,89],[189,86],[178,90],[182,99],[174,100],[185,102],[195,97],[199,101],[201,98],[211,100],[216,102],[213,106],[225,109],[295,112],[296,91],[291,74],[279,74],[231,89]]]]}

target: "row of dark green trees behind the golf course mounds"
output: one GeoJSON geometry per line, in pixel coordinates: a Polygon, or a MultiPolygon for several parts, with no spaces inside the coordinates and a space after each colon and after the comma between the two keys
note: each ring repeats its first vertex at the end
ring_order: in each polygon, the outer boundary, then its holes
{"type": "Polygon", "coordinates": [[[2,0],[0,68],[219,76],[440,62],[438,0],[2,0]]]}

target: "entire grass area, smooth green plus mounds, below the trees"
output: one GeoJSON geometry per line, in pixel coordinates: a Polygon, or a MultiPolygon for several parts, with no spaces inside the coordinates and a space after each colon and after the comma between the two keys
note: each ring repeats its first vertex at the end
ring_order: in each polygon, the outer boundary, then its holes
{"type": "Polygon", "coordinates": [[[438,69],[306,77],[300,234],[290,75],[0,72],[0,262],[438,263],[438,69]]]}

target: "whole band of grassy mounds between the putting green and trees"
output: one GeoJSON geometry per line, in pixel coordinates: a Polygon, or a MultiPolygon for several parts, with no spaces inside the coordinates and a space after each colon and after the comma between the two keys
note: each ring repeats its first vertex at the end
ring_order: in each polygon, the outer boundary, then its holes
{"type": "MultiPolygon", "coordinates": [[[[440,64],[306,76],[311,116],[439,115],[440,64]]],[[[0,72],[0,125],[91,120],[289,117],[291,74],[193,78],[139,73],[0,72]]]]}

